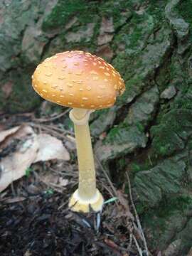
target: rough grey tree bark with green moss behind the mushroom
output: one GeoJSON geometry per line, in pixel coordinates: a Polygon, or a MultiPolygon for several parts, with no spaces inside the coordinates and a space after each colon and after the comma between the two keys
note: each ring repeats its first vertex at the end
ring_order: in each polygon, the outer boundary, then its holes
{"type": "Polygon", "coordinates": [[[149,247],[165,255],[186,255],[192,240],[191,10],[191,0],[0,2],[1,110],[38,106],[31,73],[59,51],[101,55],[124,77],[117,105],[92,117],[95,152],[115,182],[129,171],[149,247]]]}

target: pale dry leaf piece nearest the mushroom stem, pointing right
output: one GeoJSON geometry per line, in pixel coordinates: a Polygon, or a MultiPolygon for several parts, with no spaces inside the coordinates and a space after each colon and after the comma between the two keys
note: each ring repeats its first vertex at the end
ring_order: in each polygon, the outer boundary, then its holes
{"type": "Polygon", "coordinates": [[[70,154],[63,146],[63,143],[49,134],[39,134],[37,136],[39,150],[34,163],[38,161],[48,161],[52,159],[70,160],[70,154]]]}

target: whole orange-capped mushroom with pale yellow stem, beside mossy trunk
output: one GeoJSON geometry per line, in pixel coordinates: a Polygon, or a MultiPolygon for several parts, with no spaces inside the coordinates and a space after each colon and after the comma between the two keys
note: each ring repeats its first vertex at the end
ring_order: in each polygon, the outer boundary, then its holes
{"type": "Polygon", "coordinates": [[[71,210],[102,210],[104,200],[96,188],[88,121],[91,112],[114,105],[117,95],[124,92],[124,81],[102,58],[72,50],[46,58],[33,73],[32,84],[44,99],[73,108],[70,119],[75,127],[79,184],[70,198],[71,210]]]}

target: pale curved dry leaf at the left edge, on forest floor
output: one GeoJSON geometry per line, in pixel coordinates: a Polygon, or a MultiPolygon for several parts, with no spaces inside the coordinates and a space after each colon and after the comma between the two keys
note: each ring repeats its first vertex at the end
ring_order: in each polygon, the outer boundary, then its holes
{"type": "Polygon", "coordinates": [[[4,157],[0,161],[0,192],[3,191],[9,184],[21,178],[26,169],[31,166],[36,159],[38,151],[38,141],[33,129],[28,126],[23,126],[19,129],[21,144],[18,144],[17,150],[4,157]]]}

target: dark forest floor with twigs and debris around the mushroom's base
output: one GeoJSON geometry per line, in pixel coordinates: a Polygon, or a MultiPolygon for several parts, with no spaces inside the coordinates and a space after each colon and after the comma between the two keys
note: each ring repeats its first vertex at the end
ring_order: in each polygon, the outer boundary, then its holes
{"type": "MultiPolygon", "coordinates": [[[[64,115],[36,119],[33,113],[1,114],[0,137],[6,129],[29,125],[36,134],[46,132],[61,139],[70,153],[69,161],[54,159],[31,164],[22,178],[0,193],[1,256],[151,255],[132,200],[128,174],[128,193],[124,193],[125,185],[117,189],[95,159],[97,186],[105,198],[102,212],[81,214],[68,208],[70,195],[78,185],[78,166],[73,132],[56,129],[64,115]]],[[[16,153],[14,136],[9,134],[6,143],[5,139],[0,142],[1,161],[16,153]]],[[[19,139],[16,142],[19,144],[19,139]]]]}

